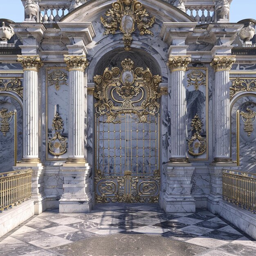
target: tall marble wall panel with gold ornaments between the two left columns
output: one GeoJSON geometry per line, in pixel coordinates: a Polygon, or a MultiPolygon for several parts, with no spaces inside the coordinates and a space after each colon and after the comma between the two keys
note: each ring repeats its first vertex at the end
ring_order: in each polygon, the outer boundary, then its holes
{"type": "Polygon", "coordinates": [[[46,69],[46,160],[67,158],[68,72],[63,67],[46,69]]]}

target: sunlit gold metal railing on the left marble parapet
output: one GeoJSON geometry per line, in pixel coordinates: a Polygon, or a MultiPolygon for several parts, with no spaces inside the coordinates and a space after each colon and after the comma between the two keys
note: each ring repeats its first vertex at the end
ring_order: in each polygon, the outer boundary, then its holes
{"type": "Polygon", "coordinates": [[[31,197],[31,169],[0,173],[0,212],[31,197]]]}

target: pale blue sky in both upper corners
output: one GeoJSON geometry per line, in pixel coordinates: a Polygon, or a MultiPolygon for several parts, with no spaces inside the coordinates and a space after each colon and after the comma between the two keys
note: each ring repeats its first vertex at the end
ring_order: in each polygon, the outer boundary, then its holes
{"type": "MultiPolygon", "coordinates": [[[[22,22],[24,20],[22,2],[20,0],[0,0],[0,18],[22,22]]],[[[230,22],[238,22],[247,18],[256,20],[256,0],[233,0],[230,22]]]]}

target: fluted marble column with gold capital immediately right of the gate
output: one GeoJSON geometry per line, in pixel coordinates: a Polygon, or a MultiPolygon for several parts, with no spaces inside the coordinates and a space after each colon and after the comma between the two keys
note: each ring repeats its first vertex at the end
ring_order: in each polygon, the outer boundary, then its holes
{"type": "Polygon", "coordinates": [[[187,163],[186,157],[186,89],[185,72],[191,62],[190,56],[170,55],[167,65],[171,70],[169,102],[171,112],[171,163],[187,163]]]}

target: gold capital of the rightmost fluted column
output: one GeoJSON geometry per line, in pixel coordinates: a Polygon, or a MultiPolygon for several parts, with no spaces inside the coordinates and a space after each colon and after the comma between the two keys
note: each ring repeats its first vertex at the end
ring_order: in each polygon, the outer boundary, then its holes
{"type": "Polygon", "coordinates": [[[210,65],[213,67],[214,71],[230,71],[232,65],[236,62],[235,55],[215,55],[210,65]]]}

